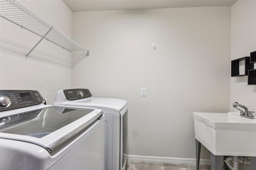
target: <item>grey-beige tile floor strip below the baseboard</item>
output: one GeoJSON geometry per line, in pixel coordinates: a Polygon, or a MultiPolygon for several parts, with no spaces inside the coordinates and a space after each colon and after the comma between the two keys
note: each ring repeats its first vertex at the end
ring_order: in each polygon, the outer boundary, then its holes
{"type": "MultiPolygon", "coordinates": [[[[200,170],[210,170],[209,165],[200,165],[200,170]]],[[[169,164],[129,160],[126,170],[196,170],[195,164],[169,164]]]]}

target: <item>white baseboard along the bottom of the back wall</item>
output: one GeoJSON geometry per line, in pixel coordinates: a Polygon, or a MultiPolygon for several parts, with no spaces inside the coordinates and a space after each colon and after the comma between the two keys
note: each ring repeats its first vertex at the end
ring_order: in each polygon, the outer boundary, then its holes
{"type": "MultiPolygon", "coordinates": [[[[145,162],[161,162],[171,164],[196,164],[195,158],[173,158],[163,156],[142,156],[142,155],[127,155],[127,160],[145,161],[145,162]]],[[[200,159],[200,165],[210,165],[210,159],[200,159]]]]}

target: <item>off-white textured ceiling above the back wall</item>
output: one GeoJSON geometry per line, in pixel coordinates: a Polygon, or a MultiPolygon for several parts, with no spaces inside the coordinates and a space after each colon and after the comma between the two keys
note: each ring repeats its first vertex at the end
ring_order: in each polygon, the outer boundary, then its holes
{"type": "Polygon", "coordinates": [[[72,12],[232,6],[237,0],[62,0],[72,12]]]}

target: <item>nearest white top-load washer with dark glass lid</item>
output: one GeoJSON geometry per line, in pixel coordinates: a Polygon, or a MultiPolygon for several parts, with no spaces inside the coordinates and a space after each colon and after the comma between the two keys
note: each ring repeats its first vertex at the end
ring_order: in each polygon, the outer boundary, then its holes
{"type": "Polygon", "coordinates": [[[104,169],[104,112],[44,102],[35,90],[0,90],[0,170],[104,169]]]}

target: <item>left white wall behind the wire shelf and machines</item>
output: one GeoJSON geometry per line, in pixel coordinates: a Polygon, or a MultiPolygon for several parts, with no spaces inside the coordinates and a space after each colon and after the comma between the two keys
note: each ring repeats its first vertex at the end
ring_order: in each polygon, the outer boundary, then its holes
{"type": "MultiPolygon", "coordinates": [[[[72,36],[72,12],[61,1],[18,1],[43,20],[72,36]]],[[[0,89],[36,89],[48,104],[55,93],[71,87],[71,53],[39,36],[0,18],[0,89]]]]}

